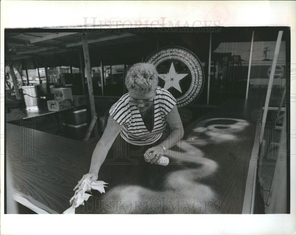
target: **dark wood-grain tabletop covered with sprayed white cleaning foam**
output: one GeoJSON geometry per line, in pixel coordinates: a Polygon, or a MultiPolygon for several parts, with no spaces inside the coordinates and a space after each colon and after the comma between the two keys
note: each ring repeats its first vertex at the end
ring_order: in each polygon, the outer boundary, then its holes
{"type": "MultiPolygon", "coordinates": [[[[93,190],[76,213],[242,213],[256,107],[255,101],[228,100],[202,116],[167,151],[166,167],[143,159],[110,164],[110,150],[98,179],[109,183],[106,193],[93,190]]],[[[89,170],[95,145],[6,125],[6,159],[15,190],[50,213],[62,213],[69,208],[73,187],[89,170]]]]}

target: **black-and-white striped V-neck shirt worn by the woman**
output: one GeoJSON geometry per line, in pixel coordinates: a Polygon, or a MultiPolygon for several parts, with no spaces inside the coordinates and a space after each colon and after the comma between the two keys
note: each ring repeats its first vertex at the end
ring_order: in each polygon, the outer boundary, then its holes
{"type": "Polygon", "coordinates": [[[110,116],[122,126],[121,137],[134,145],[154,143],[165,130],[166,115],[176,105],[176,99],[166,89],[157,87],[154,98],[154,127],[149,132],[137,107],[129,104],[129,98],[129,93],[124,94],[109,110],[110,116]]]}

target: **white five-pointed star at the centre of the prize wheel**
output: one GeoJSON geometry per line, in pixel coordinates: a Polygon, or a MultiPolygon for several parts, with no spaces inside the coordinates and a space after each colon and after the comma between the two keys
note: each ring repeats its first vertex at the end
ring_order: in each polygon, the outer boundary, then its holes
{"type": "Polygon", "coordinates": [[[182,93],[181,87],[180,87],[180,80],[186,77],[188,74],[177,74],[174,64],[170,65],[170,71],[167,74],[159,74],[160,78],[165,81],[165,87],[164,89],[169,89],[170,87],[174,87],[179,92],[182,93]]]}

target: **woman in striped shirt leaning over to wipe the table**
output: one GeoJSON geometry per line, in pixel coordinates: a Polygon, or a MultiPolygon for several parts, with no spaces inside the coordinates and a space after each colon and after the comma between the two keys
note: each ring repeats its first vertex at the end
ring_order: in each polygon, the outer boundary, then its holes
{"type": "Polygon", "coordinates": [[[145,159],[151,164],[157,163],[184,135],[176,99],[166,89],[157,86],[158,75],[153,64],[133,65],[125,84],[129,92],[110,108],[107,126],[92,154],[89,172],[83,175],[74,190],[83,179],[97,180],[99,169],[119,133],[120,148],[130,152],[143,150],[143,158],[151,154],[145,159]],[[167,125],[171,132],[168,138],[163,138],[167,125]]]}

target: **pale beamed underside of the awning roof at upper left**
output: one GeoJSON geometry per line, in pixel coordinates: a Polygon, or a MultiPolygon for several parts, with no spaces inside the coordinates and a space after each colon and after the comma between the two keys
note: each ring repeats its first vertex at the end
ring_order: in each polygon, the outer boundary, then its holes
{"type": "MultiPolygon", "coordinates": [[[[89,47],[145,40],[130,32],[87,32],[89,47]]],[[[22,32],[5,34],[12,60],[77,50],[82,47],[80,32],[22,32]]]]}

